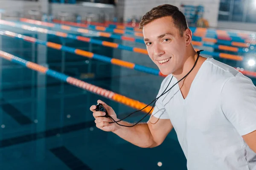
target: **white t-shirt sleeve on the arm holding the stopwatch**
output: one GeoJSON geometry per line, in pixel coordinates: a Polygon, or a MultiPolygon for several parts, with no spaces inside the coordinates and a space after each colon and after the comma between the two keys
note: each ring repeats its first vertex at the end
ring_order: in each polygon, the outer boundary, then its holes
{"type": "MultiPolygon", "coordinates": [[[[159,97],[162,93],[163,93],[163,91],[166,89],[166,81],[167,81],[168,79],[166,78],[166,79],[164,79],[163,80],[163,82],[161,83],[161,87],[160,87],[160,90],[159,90],[159,92],[158,92],[158,94],[157,94],[157,97],[159,97]]],[[[169,89],[169,88],[168,88],[169,89]]],[[[168,90],[167,89],[167,90],[168,90]]],[[[166,90],[166,91],[167,91],[166,90]]],[[[168,93],[167,93],[168,94],[168,93]]],[[[155,106],[154,106],[154,110],[153,110],[153,112],[152,112],[152,116],[154,116],[154,117],[156,117],[156,118],[159,118],[159,119],[169,119],[169,115],[168,115],[168,113],[167,113],[167,111],[166,111],[166,108],[164,107],[164,104],[163,104],[163,97],[160,97],[158,100],[157,100],[157,102],[156,102],[156,104],[155,104],[155,106]]]]}

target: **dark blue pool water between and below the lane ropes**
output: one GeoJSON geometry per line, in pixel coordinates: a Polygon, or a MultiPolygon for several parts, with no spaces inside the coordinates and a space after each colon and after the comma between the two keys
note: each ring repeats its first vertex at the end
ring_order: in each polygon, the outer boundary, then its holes
{"type": "MultiPolygon", "coordinates": [[[[8,26],[0,28],[157,69],[144,54],[8,26]]],[[[145,48],[136,42],[93,38],[145,48]]],[[[155,98],[163,80],[163,77],[12,37],[0,36],[0,50],[144,103],[155,98]]],[[[218,60],[236,67],[244,66],[237,61],[218,60]]],[[[186,159],[175,130],[159,147],[140,148],[113,133],[99,130],[89,110],[98,99],[111,105],[119,118],[135,111],[133,108],[2,58],[0,89],[1,169],[186,170],[186,159]],[[159,167],[158,162],[162,166],[159,167]]],[[[143,116],[144,113],[136,113],[127,121],[137,122],[143,116]]],[[[147,120],[148,117],[144,122],[147,120]]]]}

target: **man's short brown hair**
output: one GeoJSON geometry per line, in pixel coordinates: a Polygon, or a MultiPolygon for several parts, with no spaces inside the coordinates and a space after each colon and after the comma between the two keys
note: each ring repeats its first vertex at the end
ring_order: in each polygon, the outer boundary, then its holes
{"type": "Polygon", "coordinates": [[[142,29],[148,23],[161,17],[172,17],[173,23],[180,30],[180,35],[188,28],[185,15],[176,6],[170,4],[164,4],[152,8],[148,11],[140,21],[140,29],[142,29]]]}

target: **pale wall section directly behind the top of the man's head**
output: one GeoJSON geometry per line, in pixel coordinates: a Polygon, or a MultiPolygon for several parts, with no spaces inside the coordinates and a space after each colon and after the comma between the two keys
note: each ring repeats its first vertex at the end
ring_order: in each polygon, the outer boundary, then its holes
{"type": "MultiPolygon", "coordinates": [[[[124,19],[125,21],[133,16],[142,17],[147,11],[162,4],[172,4],[180,8],[185,5],[203,5],[205,8],[204,18],[209,21],[211,27],[218,24],[218,8],[220,0],[125,0],[124,19]]],[[[181,8],[180,8],[181,9],[181,8]]]]}

